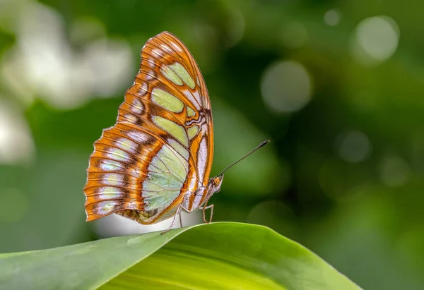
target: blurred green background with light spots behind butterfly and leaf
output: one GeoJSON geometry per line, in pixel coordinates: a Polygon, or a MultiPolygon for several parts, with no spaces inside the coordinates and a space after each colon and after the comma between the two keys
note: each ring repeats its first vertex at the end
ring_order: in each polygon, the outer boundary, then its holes
{"type": "Polygon", "coordinates": [[[419,0],[0,0],[0,252],[158,229],[86,223],[82,188],[141,47],[168,30],[208,85],[212,174],[271,139],[225,174],[214,221],[270,226],[365,289],[424,289],[423,11],[419,0]]]}

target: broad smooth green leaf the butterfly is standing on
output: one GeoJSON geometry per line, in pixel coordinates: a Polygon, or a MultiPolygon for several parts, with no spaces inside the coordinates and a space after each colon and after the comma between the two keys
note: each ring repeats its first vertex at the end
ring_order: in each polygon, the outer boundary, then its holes
{"type": "Polygon", "coordinates": [[[0,255],[4,289],[360,289],[264,226],[219,222],[0,255]]]}

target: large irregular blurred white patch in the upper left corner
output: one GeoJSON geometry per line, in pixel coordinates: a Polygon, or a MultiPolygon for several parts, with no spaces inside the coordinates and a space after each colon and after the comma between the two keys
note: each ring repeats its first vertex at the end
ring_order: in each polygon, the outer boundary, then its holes
{"type": "Polygon", "coordinates": [[[122,90],[132,77],[126,41],[105,37],[98,21],[76,21],[71,40],[80,45],[73,49],[61,15],[42,4],[31,6],[16,16],[16,45],[1,66],[1,77],[15,95],[27,103],[40,97],[59,109],[73,109],[122,90]]]}

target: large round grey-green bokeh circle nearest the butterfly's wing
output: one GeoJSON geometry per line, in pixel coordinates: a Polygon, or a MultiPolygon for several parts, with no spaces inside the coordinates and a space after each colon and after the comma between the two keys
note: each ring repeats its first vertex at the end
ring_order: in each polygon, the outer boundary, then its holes
{"type": "Polygon", "coordinates": [[[305,107],[311,98],[312,84],[307,70],[297,61],[281,61],[266,68],[261,80],[261,95],[274,111],[293,112],[305,107]]]}

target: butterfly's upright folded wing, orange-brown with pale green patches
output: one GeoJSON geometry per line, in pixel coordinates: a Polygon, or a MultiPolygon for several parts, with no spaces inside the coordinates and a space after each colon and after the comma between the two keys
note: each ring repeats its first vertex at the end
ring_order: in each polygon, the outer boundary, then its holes
{"type": "Polygon", "coordinates": [[[88,221],[117,213],[160,222],[206,187],[211,103],[196,61],[175,35],[162,32],[146,42],[117,123],[94,147],[84,187],[88,221]]]}

